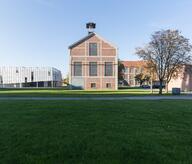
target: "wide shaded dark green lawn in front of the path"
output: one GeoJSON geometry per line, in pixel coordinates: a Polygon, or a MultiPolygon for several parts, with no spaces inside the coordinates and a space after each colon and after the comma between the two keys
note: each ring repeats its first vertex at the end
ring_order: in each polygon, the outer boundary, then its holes
{"type": "Polygon", "coordinates": [[[191,163],[191,101],[0,101],[0,163],[191,163]]]}

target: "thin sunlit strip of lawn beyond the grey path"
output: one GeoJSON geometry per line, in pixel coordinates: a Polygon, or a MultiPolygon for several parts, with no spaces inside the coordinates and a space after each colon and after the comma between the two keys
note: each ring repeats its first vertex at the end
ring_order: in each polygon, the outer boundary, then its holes
{"type": "MultiPolygon", "coordinates": [[[[158,90],[154,90],[153,95],[157,95],[158,90]]],[[[64,90],[64,89],[0,89],[0,97],[21,96],[21,97],[86,97],[86,96],[146,96],[151,95],[150,89],[122,89],[118,91],[84,91],[84,90],[64,90]]]]}

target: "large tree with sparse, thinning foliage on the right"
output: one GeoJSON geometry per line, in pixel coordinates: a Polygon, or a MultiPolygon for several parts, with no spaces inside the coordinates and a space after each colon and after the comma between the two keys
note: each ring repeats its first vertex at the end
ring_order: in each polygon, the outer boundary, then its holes
{"type": "Polygon", "coordinates": [[[157,75],[159,94],[162,94],[163,82],[168,88],[172,76],[191,62],[191,50],[189,40],[178,30],[161,30],[152,35],[146,47],[137,48],[136,54],[146,60],[148,68],[157,75]]]}

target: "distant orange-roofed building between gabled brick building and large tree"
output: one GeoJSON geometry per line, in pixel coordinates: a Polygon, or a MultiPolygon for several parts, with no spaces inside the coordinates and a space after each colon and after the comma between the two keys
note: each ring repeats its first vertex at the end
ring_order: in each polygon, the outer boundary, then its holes
{"type": "Polygon", "coordinates": [[[146,73],[146,62],[143,60],[138,61],[122,61],[125,67],[124,79],[127,81],[128,85],[131,87],[140,86],[139,82],[135,80],[135,76],[140,73],[146,73]]]}

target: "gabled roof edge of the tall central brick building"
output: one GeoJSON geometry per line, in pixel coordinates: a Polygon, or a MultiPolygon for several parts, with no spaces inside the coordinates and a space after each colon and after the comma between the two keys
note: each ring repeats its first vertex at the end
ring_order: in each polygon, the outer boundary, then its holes
{"type": "Polygon", "coordinates": [[[100,38],[101,40],[103,40],[104,42],[108,43],[109,45],[111,45],[114,48],[117,48],[115,45],[113,45],[112,43],[106,41],[105,39],[103,39],[101,36],[99,36],[98,34],[96,34],[95,32],[91,32],[89,33],[87,36],[85,36],[84,38],[80,39],[79,41],[73,43],[72,45],[69,46],[69,49],[72,49],[74,47],[76,47],[77,45],[83,43],[84,41],[88,40],[89,38],[93,37],[93,36],[97,36],[98,38],[100,38]]]}

